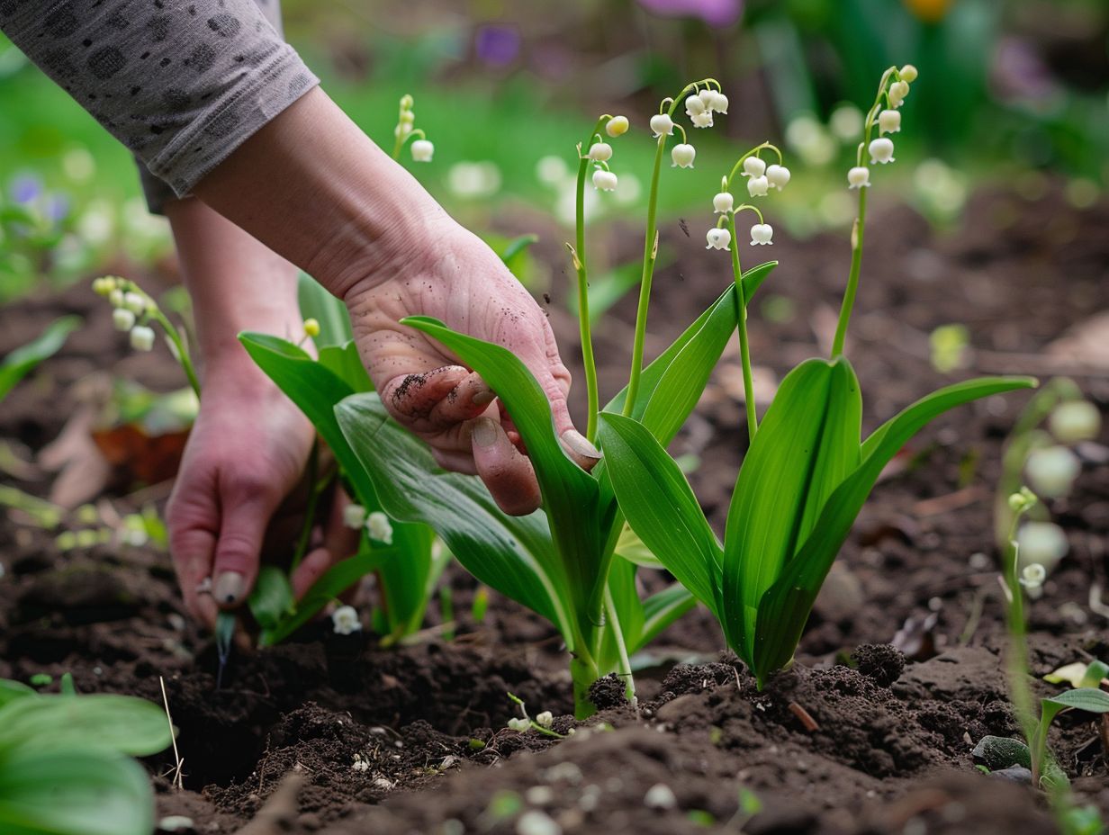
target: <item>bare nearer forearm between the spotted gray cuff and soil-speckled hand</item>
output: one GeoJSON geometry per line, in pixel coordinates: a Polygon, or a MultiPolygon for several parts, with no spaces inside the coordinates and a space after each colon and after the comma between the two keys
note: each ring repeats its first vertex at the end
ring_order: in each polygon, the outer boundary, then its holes
{"type": "Polygon", "coordinates": [[[243,143],[195,193],[340,298],[434,250],[448,220],[319,89],[243,143]]]}

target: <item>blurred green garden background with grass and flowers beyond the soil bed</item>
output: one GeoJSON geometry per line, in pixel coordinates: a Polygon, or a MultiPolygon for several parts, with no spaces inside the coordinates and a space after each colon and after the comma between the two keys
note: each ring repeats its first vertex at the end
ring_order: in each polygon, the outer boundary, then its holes
{"type": "MultiPolygon", "coordinates": [[[[663,95],[714,75],[730,114],[696,131],[694,172],[663,181],[670,216],[708,214],[731,159],[770,138],[794,180],[781,222],[808,234],[849,221],[843,183],[881,71],[920,70],[896,138],[898,189],[936,224],[969,192],[1051,179],[1068,200],[1109,183],[1106,0],[284,0],[286,37],[324,86],[388,147],[397,100],[436,144],[420,181],[477,231],[572,220],[574,146],[601,112],[621,187],[594,220],[638,221],[663,95]]],[[[167,257],[129,154],[0,38],[0,302],[42,282],[167,257]]]]}

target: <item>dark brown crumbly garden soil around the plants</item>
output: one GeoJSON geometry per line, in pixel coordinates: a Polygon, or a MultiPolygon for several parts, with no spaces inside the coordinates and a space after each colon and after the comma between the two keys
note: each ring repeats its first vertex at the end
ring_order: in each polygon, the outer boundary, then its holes
{"type": "MultiPolygon", "coordinates": [[[[938,325],[969,329],[970,365],[956,376],[1051,371],[1045,347],[1109,309],[1107,224],[1109,206],[1078,212],[1055,193],[1026,202],[994,192],[975,198],[957,232],[938,235],[908,210],[879,202],[848,347],[865,428],[952,380],[929,363],[927,336],[938,325]]],[[[619,257],[640,245],[630,231],[617,241],[619,257]]],[[[655,276],[651,350],[729,281],[720,254],[704,252],[676,222],[662,241],[681,266],[655,276]]],[[[784,234],[772,254],[783,266],[761,293],[787,297],[793,313],[772,323],[756,304],[750,327],[762,385],[821,352],[848,257],[840,238],[784,234]]],[[[557,233],[545,235],[539,255],[564,275],[557,233]]],[[[564,288],[552,294],[551,320],[572,360],[577,332],[559,306],[564,288]]],[[[624,299],[598,328],[603,391],[622,381],[632,305],[624,299]]],[[[162,389],[183,383],[157,352],[129,355],[106,306],[83,287],[0,310],[0,353],[64,312],[84,315],[87,328],[0,413],[0,438],[18,454],[58,436],[79,408],[81,381],[99,369],[162,389]]],[[[1105,411],[1105,368],[1070,370],[1105,411]]],[[[744,451],[737,378],[732,350],[673,447],[699,457],[691,480],[716,525],[744,451]]],[[[496,595],[488,617],[472,622],[465,601],[474,583],[454,570],[447,581],[462,613],[454,640],[429,632],[383,649],[373,635],[344,638],[316,624],[278,648],[237,650],[217,690],[214,648],[187,621],[165,553],[61,553],[52,534],[17,513],[0,520],[0,676],[71,671],[82,691],[159,702],[164,678],[184,791],[171,785],[172,755],[146,764],[160,815],[187,816],[196,833],[237,831],[289,774],[301,781],[298,792],[289,788],[297,800],[273,801],[264,832],[1052,833],[1041,796],[983,775],[970,755],[981,736],[1017,732],[1001,664],[990,489],[1026,398],[963,407],[912,442],[845,544],[798,663],[761,693],[720,652],[719,628],[693,612],[642,658],[637,706],[602,680],[594,695],[603,709],[577,723],[550,627],[496,595]],[[552,711],[564,739],[507,730],[517,715],[509,692],[532,715],[552,711]],[[741,808],[743,792],[759,798],[754,816],[741,808]]],[[[1079,659],[1109,660],[1106,618],[1089,605],[1091,585],[1105,588],[1109,572],[1107,439],[1082,448],[1075,492],[1051,505],[1070,553],[1030,608],[1037,675],[1079,659]]],[[[20,475],[14,486],[45,495],[45,475],[33,466],[20,475]]],[[[125,488],[108,483],[102,496],[125,511],[136,502],[125,488]]],[[[1089,714],[1065,713],[1051,744],[1078,798],[1109,814],[1100,740],[1089,714]]]]}

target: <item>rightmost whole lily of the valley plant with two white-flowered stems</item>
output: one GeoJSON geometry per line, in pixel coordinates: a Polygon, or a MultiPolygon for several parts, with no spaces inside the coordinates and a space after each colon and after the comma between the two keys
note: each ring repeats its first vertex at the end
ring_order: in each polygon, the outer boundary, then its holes
{"type": "MultiPolygon", "coordinates": [[[[723,543],[705,520],[684,475],[668,456],[667,438],[629,416],[602,416],[600,440],[607,472],[632,530],[716,617],[728,645],[750,665],[760,686],[791,663],[824,578],[886,462],[943,411],[1035,383],[999,377],[949,386],[912,405],[862,440],[859,385],[844,356],[844,340],[862,266],[871,187],[866,156],[869,165],[893,161],[893,141],[883,134],[899,130],[897,108],[915,78],[916,70],[909,65],[886,70],[866,114],[856,165],[847,177],[849,187],[858,192],[858,214],[831,356],[808,359],[794,368],[761,425],[745,334],[746,306],[754,287],[740,271],[737,247],[731,248],[750,447],[732,495],[723,543]],[[879,135],[875,136],[875,131],[879,135]]],[[[714,201],[722,217],[709,233],[710,247],[729,248],[735,238],[735,214],[749,208],[732,208],[731,186],[741,169],[752,197],[773,185],[770,169],[763,171],[759,159],[762,150],[741,157],[724,177],[725,187],[714,201]]],[[[752,230],[753,243],[763,243],[763,238],[770,243],[770,232],[760,230],[764,225],[752,230]]]]}

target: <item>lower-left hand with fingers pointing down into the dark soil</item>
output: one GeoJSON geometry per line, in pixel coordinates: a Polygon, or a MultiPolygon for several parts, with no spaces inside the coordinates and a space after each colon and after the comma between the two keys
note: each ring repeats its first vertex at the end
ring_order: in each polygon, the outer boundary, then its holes
{"type": "MultiPolygon", "coordinates": [[[[315,432],[254,367],[210,368],[166,511],[170,550],[186,609],[208,627],[246,598],[269,544],[295,542],[297,486],[315,432]]],[[[337,519],[293,573],[299,599],[357,544],[337,519]]]]}

